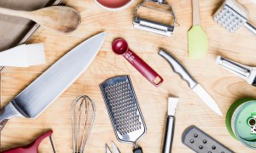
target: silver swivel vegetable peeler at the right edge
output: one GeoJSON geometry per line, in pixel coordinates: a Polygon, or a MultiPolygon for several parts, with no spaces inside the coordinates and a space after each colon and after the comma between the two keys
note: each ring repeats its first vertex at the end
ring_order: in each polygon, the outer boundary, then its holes
{"type": "Polygon", "coordinates": [[[218,65],[222,65],[228,71],[236,74],[238,77],[241,77],[247,83],[256,86],[256,68],[250,67],[247,65],[242,65],[233,60],[226,59],[222,56],[218,56],[216,58],[216,62],[218,65]]]}

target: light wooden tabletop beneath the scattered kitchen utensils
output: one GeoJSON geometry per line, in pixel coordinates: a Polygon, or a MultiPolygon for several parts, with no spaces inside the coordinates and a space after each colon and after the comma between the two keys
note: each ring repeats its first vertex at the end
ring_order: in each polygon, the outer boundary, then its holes
{"type": "MultiPolygon", "coordinates": [[[[250,0],[239,0],[239,2],[249,10],[249,20],[256,25],[255,3],[250,0]]],[[[86,151],[105,152],[105,144],[113,141],[121,152],[131,152],[132,144],[119,143],[115,138],[99,88],[99,84],[109,77],[130,75],[148,127],[148,133],[138,142],[144,152],[155,153],[161,150],[169,95],[180,97],[173,152],[193,152],[181,142],[183,130],[190,125],[200,127],[236,152],[253,152],[230,136],[224,120],[226,111],[236,99],[256,98],[256,88],[216,65],[215,58],[219,54],[246,65],[256,65],[256,37],[245,27],[241,27],[236,33],[230,33],[212,20],[212,14],[222,1],[201,0],[200,2],[201,25],[209,39],[207,56],[201,60],[188,58],[187,31],[192,26],[192,7],[189,0],[168,1],[172,4],[177,14],[177,21],[181,25],[175,28],[172,37],[163,37],[133,28],[132,12],[141,1],[135,1],[129,8],[120,12],[107,12],[97,6],[93,0],[70,0],[65,3],[79,10],[82,16],[81,26],[67,36],[43,28],[36,32],[28,43],[44,42],[47,64],[29,68],[5,68],[1,78],[2,107],[79,42],[101,31],[107,31],[108,36],[90,67],[37,119],[14,118],[8,122],[1,133],[1,150],[28,144],[51,128],[54,130],[57,150],[61,153],[72,152],[70,105],[77,96],[87,94],[96,102],[96,122],[86,151]],[[124,58],[113,54],[111,42],[116,37],[125,38],[131,49],[164,77],[165,82],[160,88],[154,88],[124,58]],[[195,80],[200,82],[217,101],[224,116],[218,116],[211,111],[189,89],[187,83],[173,73],[166,60],[157,54],[159,48],[166,48],[181,60],[195,80]]],[[[40,145],[40,152],[51,152],[49,140],[45,140],[40,145]]]]}

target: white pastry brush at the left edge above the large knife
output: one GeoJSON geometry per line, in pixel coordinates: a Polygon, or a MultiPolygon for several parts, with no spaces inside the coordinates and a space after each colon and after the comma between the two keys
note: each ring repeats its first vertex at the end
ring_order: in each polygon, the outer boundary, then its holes
{"type": "Polygon", "coordinates": [[[45,64],[44,44],[22,44],[0,52],[0,65],[28,67],[45,64]]]}

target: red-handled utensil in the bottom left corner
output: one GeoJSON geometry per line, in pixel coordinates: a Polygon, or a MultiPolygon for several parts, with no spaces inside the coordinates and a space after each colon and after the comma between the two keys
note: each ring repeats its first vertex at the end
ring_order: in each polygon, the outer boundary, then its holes
{"type": "Polygon", "coordinates": [[[2,153],[38,153],[38,146],[41,144],[41,142],[49,137],[50,144],[52,147],[53,152],[55,153],[55,144],[51,137],[53,131],[49,130],[47,133],[44,133],[43,135],[39,136],[37,139],[35,139],[31,144],[27,144],[25,146],[16,147],[9,150],[4,150],[2,153]]]}

